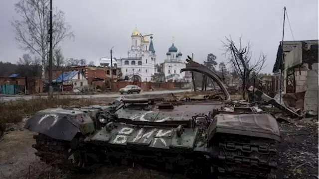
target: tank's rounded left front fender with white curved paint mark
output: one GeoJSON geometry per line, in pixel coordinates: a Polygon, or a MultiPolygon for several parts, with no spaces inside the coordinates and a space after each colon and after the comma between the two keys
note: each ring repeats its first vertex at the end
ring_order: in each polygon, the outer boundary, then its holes
{"type": "Polygon", "coordinates": [[[95,131],[94,122],[89,114],[61,108],[37,112],[26,121],[24,128],[66,141],[71,141],[78,132],[85,135],[95,131]]]}

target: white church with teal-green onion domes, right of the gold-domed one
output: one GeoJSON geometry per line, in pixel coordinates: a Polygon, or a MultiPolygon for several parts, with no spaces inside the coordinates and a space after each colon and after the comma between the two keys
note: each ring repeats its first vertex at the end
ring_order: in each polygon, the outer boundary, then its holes
{"type": "Polygon", "coordinates": [[[163,73],[165,75],[165,81],[186,81],[185,72],[180,73],[180,70],[186,68],[185,62],[182,60],[182,53],[177,53],[177,48],[174,43],[169,47],[166,53],[166,59],[162,63],[163,73]]]}

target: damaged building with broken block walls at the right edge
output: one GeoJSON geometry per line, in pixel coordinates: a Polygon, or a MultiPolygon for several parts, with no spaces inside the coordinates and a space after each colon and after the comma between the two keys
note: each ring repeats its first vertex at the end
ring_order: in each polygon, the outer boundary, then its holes
{"type": "Polygon", "coordinates": [[[318,111],[319,40],[280,42],[273,73],[276,91],[305,93],[303,109],[318,111]]]}

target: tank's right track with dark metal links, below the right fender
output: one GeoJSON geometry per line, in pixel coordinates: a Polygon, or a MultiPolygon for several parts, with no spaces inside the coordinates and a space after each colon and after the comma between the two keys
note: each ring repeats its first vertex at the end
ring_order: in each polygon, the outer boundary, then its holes
{"type": "Polygon", "coordinates": [[[219,179],[276,179],[276,141],[222,136],[216,167],[219,179]]]}

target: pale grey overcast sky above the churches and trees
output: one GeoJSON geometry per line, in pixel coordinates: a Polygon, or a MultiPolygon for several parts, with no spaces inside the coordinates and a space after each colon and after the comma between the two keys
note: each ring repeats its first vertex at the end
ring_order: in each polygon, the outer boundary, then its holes
{"type": "MultiPolygon", "coordinates": [[[[13,4],[0,0],[0,61],[15,63],[22,56],[9,20],[16,16],[13,4]]],[[[184,58],[194,53],[203,62],[208,53],[225,60],[221,40],[231,35],[237,42],[253,43],[253,57],[263,51],[271,73],[282,40],[283,8],[286,6],[285,40],[310,40],[319,36],[319,0],[53,0],[65,12],[75,40],[61,43],[65,58],[93,61],[109,57],[114,46],[116,58],[127,57],[131,34],[153,33],[157,62],[165,59],[172,43],[184,58]],[[292,35],[293,34],[293,35],[292,35]],[[294,38],[293,38],[294,36],[294,38]]]]}

